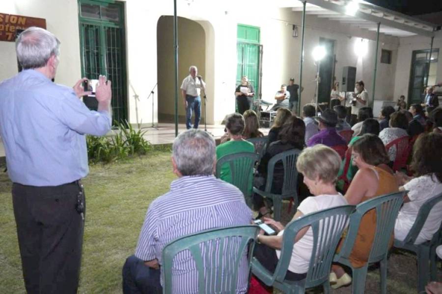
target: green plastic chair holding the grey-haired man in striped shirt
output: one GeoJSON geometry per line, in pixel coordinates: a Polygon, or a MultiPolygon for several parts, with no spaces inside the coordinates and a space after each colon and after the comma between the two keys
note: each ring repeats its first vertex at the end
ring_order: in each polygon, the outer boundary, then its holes
{"type": "Polygon", "coordinates": [[[196,266],[199,294],[236,294],[241,260],[247,255],[249,273],[258,232],[256,225],[232,226],[202,231],[168,243],[163,248],[163,293],[173,293],[174,257],[190,251],[196,266]]]}

